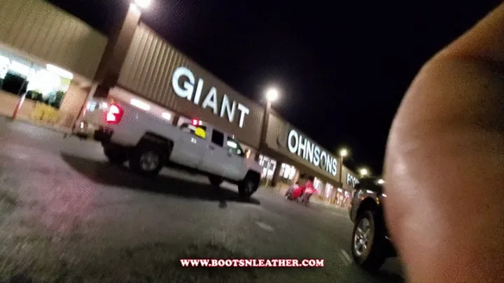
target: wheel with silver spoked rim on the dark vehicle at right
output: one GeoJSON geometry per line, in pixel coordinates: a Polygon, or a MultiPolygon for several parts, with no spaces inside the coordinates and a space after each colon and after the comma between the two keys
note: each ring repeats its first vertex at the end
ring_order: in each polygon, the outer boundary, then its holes
{"type": "Polygon", "coordinates": [[[385,262],[385,233],[370,210],[358,216],[352,233],[351,252],[356,263],[365,270],[378,270],[385,262]]]}

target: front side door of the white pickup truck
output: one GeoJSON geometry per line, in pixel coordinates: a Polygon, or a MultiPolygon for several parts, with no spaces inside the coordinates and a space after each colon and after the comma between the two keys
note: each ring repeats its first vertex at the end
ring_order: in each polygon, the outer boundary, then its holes
{"type": "Polygon", "coordinates": [[[234,138],[226,140],[228,162],[224,167],[225,174],[232,180],[243,180],[246,174],[245,152],[234,138]]]}

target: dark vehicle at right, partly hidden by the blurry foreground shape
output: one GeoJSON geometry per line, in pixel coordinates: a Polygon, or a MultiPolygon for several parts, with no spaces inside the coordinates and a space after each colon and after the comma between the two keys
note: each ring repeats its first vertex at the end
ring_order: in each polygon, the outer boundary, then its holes
{"type": "Polygon", "coordinates": [[[384,181],[365,177],[356,184],[350,219],[354,223],[351,252],[354,261],[366,270],[377,270],[384,261],[396,256],[384,217],[384,181]]]}

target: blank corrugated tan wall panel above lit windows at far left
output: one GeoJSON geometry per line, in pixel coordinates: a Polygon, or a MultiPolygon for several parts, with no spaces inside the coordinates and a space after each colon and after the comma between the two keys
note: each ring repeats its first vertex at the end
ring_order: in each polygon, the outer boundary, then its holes
{"type": "Polygon", "coordinates": [[[0,44],[94,78],[108,39],[41,0],[0,0],[0,44]]]}

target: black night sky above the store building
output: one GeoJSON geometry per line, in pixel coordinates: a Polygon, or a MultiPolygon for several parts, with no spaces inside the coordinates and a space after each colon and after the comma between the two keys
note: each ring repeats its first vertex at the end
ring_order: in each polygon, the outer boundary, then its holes
{"type": "MultiPolygon", "coordinates": [[[[50,0],[109,33],[129,0],[50,0]]],[[[388,129],[423,62],[500,1],[152,0],[142,20],[349,166],[380,173],[388,129]]]]}

